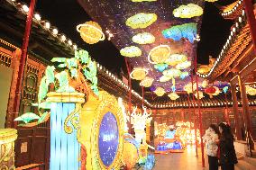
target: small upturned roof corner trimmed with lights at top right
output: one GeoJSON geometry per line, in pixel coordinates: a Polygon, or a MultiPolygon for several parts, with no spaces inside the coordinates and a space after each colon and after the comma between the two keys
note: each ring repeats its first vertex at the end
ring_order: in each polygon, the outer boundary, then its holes
{"type": "Polygon", "coordinates": [[[217,7],[221,10],[221,14],[224,19],[235,20],[239,15],[242,14],[243,3],[242,0],[238,0],[233,4],[217,7]]]}

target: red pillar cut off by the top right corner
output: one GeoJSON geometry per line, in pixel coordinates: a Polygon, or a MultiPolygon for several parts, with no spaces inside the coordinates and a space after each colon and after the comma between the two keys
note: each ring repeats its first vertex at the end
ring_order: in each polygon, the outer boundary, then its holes
{"type": "Polygon", "coordinates": [[[253,12],[252,0],[243,0],[245,6],[245,13],[247,16],[247,21],[250,26],[251,38],[254,46],[254,51],[256,52],[256,19],[255,13],[253,12]]]}

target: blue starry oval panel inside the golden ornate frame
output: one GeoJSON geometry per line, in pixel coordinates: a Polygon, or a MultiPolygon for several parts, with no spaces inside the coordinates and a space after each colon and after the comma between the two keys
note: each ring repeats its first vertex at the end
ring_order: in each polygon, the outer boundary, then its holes
{"type": "Polygon", "coordinates": [[[98,148],[102,163],[108,167],[114,162],[119,145],[117,121],[111,112],[105,113],[99,128],[98,148]]]}

